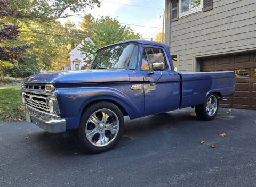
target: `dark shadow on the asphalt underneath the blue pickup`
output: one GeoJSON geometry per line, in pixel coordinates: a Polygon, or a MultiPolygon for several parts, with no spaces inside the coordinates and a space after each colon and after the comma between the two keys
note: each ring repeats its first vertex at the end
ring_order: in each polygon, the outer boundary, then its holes
{"type": "MultiPolygon", "coordinates": [[[[196,121],[196,116],[192,111],[169,112],[151,115],[136,120],[125,117],[124,135],[121,144],[137,138],[143,138],[154,131],[164,131],[166,129],[188,125],[188,121],[196,121]]],[[[69,156],[84,155],[85,151],[79,143],[76,130],[65,133],[51,134],[45,131],[37,132],[30,138],[31,143],[38,143],[49,154],[63,154],[69,156]]],[[[118,149],[118,146],[117,148],[118,149]]]]}

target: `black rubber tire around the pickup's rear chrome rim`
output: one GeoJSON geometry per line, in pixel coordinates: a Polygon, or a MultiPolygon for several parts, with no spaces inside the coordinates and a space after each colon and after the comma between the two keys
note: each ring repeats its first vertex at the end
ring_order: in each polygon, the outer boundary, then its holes
{"type": "Polygon", "coordinates": [[[213,120],[218,113],[218,109],[219,109],[219,100],[218,100],[218,96],[214,93],[209,94],[206,97],[203,104],[195,106],[196,116],[197,118],[199,118],[199,120],[213,120]],[[207,103],[209,102],[209,98],[215,98],[217,102],[217,108],[215,109],[215,113],[212,115],[210,115],[209,112],[207,112],[207,103]]]}

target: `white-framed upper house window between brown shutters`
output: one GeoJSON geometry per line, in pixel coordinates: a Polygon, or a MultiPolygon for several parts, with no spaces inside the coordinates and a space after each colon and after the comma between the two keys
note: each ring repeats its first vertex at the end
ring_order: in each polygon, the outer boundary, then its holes
{"type": "Polygon", "coordinates": [[[203,0],[179,0],[179,17],[202,11],[203,0]]]}

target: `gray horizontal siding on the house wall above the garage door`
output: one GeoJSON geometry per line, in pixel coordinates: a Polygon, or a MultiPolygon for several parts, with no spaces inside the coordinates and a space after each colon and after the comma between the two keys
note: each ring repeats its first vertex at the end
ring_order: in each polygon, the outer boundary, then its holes
{"type": "Polygon", "coordinates": [[[170,22],[166,0],[166,43],[181,72],[199,71],[197,57],[256,49],[256,0],[214,0],[213,9],[170,22]]]}

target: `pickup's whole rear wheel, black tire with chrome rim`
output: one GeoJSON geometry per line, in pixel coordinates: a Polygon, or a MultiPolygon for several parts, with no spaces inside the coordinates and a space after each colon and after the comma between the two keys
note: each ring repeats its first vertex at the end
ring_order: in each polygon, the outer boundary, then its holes
{"type": "Polygon", "coordinates": [[[216,94],[209,94],[204,103],[195,106],[196,116],[200,120],[213,120],[218,113],[219,101],[216,94]]]}

